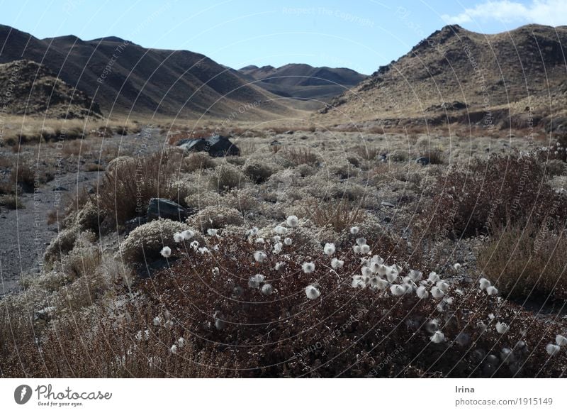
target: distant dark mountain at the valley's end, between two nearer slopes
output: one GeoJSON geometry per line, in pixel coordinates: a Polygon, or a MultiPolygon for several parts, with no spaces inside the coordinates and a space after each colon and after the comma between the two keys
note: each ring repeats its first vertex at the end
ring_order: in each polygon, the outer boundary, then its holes
{"type": "Polygon", "coordinates": [[[366,78],[366,75],[342,67],[300,64],[281,67],[251,65],[242,67],[239,72],[249,82],[279,96],[320,101],[329,101],[366,78]]]}

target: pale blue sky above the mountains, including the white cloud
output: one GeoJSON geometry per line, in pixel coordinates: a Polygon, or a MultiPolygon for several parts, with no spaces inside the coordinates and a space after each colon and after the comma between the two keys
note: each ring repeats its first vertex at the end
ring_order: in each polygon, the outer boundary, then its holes
{"type": "Polygon", "coordinates": [[[567,25],[567,0],[0,0],[0,23],[37,38],[118,36],[239,69],[307,63],[366,75],[443,26],[479,33],[567,25]]]}

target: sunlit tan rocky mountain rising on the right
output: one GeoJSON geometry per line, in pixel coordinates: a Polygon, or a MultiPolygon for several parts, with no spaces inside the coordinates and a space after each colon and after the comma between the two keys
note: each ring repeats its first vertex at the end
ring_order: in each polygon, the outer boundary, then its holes
{"type": "Polygon", "coordinates": [[[567,26],[446,26],[320,111],[328,122],[567,126],[567,26]],[[561,122],[560,122],[561,123],[561,122]]]}

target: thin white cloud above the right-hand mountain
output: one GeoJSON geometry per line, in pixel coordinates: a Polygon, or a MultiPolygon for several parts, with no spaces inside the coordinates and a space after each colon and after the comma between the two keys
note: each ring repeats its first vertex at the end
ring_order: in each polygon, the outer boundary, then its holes
{"type": "Polygon", "coordinates": [[[539,23],[548,26],[567,24],[567,1],[532,0],[522,4],[519,1],[485,1],[463,13],[449,16],[443,20],[449,24],[464,24],[472,21],[500,21],[503,23],[539,23]]]}

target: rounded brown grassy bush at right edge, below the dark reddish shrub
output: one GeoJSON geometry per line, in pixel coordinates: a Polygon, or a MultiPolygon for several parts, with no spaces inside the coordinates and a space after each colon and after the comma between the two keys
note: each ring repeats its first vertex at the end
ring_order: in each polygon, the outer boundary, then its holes
{"type": "Polygon", "coordinates": [[[504,295],[514,299],[567,299],[567,239],[548,226],[500,228],[478,264],[504,295]]]}

